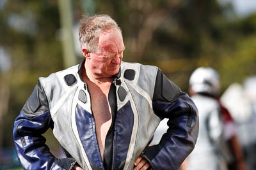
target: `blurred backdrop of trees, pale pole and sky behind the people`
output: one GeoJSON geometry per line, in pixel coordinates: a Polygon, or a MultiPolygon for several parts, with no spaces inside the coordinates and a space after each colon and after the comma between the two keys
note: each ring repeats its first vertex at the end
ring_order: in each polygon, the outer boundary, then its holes
{"type": "MultiPolygon", "coordinates": [[[[84,13],[116,20],[125,61],[160,67],[185,92],[196,67],[213,67],[223,94],[235,82],[243,90],[256,74],[255,11],[255,0],[1,0],[0,169],[20,169],[13,122],[38,77],[83,60],[77,25],[84,13]]],[[[61,157],[51,131],[45,136],[61,157]]]]}

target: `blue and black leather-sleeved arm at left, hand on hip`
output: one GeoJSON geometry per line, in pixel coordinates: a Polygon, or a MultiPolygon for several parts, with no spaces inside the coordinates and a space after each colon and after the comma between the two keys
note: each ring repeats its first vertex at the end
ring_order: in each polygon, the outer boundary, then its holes
{"type": "Polygon", "coordinates": [[[24,169],[72,169],[76,160],[58,159],[45,145],[44,132],[53,122],[44,89],[38,83],[15,119],[13,139],[17,156],[24,169]]]}

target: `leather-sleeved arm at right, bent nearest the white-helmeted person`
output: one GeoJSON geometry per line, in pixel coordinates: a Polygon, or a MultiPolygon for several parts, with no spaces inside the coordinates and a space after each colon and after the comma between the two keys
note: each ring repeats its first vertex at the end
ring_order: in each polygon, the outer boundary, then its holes
{"type": "Polygon", "coordinates": [[[169,118],[168,130],[158,145],[148,146],[141,154],[153,169],[179,169],[193,150],[198,136],[198,111],[188,94],[159,70],[153,96],[153,110],[169,118]]]}

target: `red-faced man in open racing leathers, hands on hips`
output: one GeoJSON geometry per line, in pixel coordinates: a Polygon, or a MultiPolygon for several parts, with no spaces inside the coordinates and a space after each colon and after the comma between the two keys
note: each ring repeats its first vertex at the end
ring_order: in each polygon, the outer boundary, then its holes
{"type": "Polygon", "coordinates": [[[85,17],[81,64],[39,78],[15,120],[24,169],[178,169],[198,135],[195,104],[155,66],[122,62],[122,32],[108,15],[85,17]],[[148,146],[163,118],[170,129],[148,146]],[[45,145],[49,127],[67,158],[45,145]]]}

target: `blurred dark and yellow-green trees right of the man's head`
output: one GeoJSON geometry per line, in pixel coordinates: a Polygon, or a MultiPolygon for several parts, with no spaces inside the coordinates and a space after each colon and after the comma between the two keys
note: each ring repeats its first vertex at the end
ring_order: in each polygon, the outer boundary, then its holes
{"type": "Polygon", "coordinates": [[[188,78],[199,66],[220,71],[222,89],[254,73],[255,17],[237,17],[230,4],[221,6],[215,0],[109,0],[97,1],[96,6],[122,27],[127,47],[124,60],[161,67],[183,90],[188,89],[188,78]],[[242,39],[251,47],[241,46],[242,39]]]}

